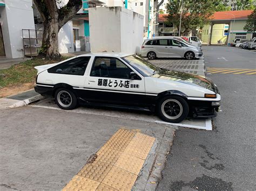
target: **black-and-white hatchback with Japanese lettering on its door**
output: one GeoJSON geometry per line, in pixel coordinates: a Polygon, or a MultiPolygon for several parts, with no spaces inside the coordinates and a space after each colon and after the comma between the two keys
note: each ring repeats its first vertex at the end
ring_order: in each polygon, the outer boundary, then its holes
{"type": "Polygon", "coordinates": [[[215,117],[217,86],[208,78],[158,68],[137,55],[93,53],[35,67],[35,90],[62,109],[79,104],[151,110],[163,121],[215,117]]]}

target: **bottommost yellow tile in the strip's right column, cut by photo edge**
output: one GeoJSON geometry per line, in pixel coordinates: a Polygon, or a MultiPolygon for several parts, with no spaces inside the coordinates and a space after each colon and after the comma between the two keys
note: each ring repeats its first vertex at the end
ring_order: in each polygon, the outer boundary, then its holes
{"type": "Polygon", "coordinates": [[[136,179],[137,175],[113,166],[102,182],[118,190],[131,190],[136,179]]]}

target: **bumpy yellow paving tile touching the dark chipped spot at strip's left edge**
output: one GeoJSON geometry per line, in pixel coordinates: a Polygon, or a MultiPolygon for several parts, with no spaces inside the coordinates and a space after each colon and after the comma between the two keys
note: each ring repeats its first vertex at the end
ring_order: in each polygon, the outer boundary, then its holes
{"type": "Polygon", "coordinates": [[[122,152],[102,147],[96,154],[98,155],[98,157],[96,158],[97,161],[106,162],[107,164],[114,165],[122,152]]]}

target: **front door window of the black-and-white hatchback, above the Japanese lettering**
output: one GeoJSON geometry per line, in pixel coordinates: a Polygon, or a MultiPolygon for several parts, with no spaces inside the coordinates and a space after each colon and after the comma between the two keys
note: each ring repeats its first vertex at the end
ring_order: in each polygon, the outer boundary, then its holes
{"type": "Polygon", "coordinates": [[[131,68],[117,58],[96,57],[90,76],[130,79],[131,68]]]}

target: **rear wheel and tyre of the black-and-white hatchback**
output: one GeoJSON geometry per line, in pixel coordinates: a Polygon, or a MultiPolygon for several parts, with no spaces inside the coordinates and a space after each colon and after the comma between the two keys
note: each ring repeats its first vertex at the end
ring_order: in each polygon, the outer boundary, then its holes
{"type": "Polygon", "coordinates": [[[55,102],[61,109],[71,110],[77,107],[76,95],[66,88],[59,88],[56,90],[55,102]]]}

